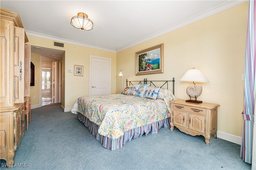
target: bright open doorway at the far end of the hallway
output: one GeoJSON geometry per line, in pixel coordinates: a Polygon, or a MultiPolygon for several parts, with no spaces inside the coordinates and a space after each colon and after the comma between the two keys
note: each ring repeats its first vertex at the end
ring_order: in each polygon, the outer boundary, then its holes
{"type": "Polygon", "coordinates": [[[57,61],[47,59],[47,57],[42,58],[42,106],[57,102],[57,90],[55,85],[57,80],[56,67],[57,61]]]}

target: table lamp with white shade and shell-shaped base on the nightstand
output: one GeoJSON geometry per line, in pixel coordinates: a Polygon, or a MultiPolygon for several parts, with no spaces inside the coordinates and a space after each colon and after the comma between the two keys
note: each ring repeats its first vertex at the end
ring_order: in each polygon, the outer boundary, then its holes
{"type": "MultiPolygon", "coordinates": [[[[202,74],[202,72],[196,68],[189,69],[179,81],[184,82],[209,82],[207,78],[202,74]]],[[[195,83],[194,83],[195,84],[195,83]]],[[[188,86],[186,90],[190,100],[186,100],[186,102],[192,103],[202,103],[200,100],[196,100],[198,96],[202,93],[202,86],[195,84],[194,86],[188,86]],[[195,98],[195,100],[191,100],[191,98],[195,98]]]]}

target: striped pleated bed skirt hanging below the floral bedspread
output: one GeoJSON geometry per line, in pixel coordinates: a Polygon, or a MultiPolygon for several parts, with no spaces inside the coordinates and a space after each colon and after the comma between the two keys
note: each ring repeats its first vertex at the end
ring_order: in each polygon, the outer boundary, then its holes
{"type": "Polygon", "coordinates": [[[170,117],[168,117],[156,123],[152,123],[142,127],[137,127],[136,129],[132,129],[130,131],[126,131],[124,135],[119,137],[118,139],[110,139],[108,137],[100,135],[98,133],[99,126],[91,122],[87,117],[85,117],[81,113],[77,114],[77,118],[86,127],[88,127],[90,133],[94,135],[94,137],[96,137],[98,141],[100,141],[100,143],[104,148],[110,149],[110,150],[120,149],[123,147],[123,145],[127,141],[131,141],[132,139],[141,137],[143,134],[148,135],[148,134],[158,133],[158,130],[161,127],[170,128],[170,117]]]}

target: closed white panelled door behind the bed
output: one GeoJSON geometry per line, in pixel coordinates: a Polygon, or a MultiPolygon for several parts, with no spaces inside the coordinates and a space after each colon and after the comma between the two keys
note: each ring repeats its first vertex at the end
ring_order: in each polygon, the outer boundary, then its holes
{"type": "Polygon", "coordinates": [[[110,94],[111,59],[90,55],[90,92],[91,96],[110,94]]]}

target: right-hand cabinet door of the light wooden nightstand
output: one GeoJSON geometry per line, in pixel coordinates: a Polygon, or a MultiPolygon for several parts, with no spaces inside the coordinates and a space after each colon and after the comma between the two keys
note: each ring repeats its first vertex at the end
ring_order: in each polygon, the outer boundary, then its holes
{"type": "Polygon", "coordinates": [[[204,134],[205,117],[201,115],[189,114],[189,129],[204,134]]]}

